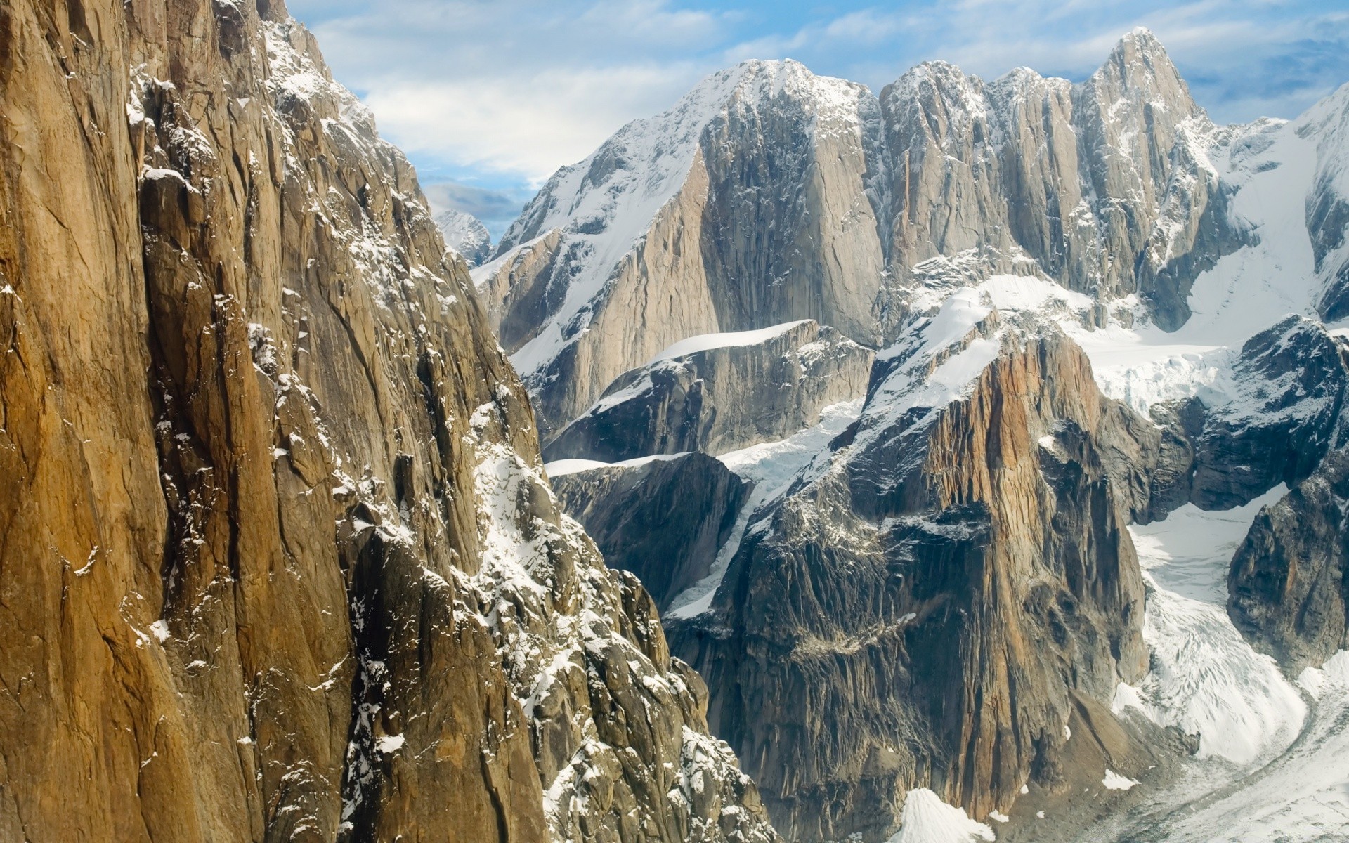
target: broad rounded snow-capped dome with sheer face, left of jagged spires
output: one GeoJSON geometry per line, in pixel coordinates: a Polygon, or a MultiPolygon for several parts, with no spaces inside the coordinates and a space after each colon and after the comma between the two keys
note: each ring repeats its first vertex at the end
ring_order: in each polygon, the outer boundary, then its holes
{"type": "Polygon", "coordinates": [[[475,272],[545,434],[689,336],[811,318],[874,343],[876,129],[863,86],[746,62],[560,170],[475,272]]]}

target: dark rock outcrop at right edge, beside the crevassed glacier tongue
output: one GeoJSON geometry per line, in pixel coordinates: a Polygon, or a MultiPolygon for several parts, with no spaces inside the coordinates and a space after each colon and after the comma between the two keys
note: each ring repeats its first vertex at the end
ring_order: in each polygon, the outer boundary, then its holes
{"type": "Polygon", "coordinates": [[[1290,676],[1349,642],[1349,452],[1256,517],[1228,577],[1228,615],[1290,676]]]}

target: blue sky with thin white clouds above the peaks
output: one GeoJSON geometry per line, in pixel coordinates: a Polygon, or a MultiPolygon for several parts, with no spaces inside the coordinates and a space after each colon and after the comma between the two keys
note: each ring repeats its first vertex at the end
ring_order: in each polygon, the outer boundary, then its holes
{"type": "Polygon", "coordinates": [[[746,58],[880,92],[946,59],[1082,80],[1147,26],[1221,123],[1294,117],[1349,82],[1349,1],[290,0],[433,201],[502,233],[557,167],[746,58]]]}

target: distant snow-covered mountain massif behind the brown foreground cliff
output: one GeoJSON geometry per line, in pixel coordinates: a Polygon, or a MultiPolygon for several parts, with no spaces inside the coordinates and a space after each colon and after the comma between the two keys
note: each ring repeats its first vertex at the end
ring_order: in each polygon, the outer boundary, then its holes
{"type": "Polygon", "coordinates": [[[746,62],[473,271],[788,839],[1349,834],[1255,773],[1349,711],[1345,90],[1218,127],[1147,30],[1079,84],[746,62]]]}

